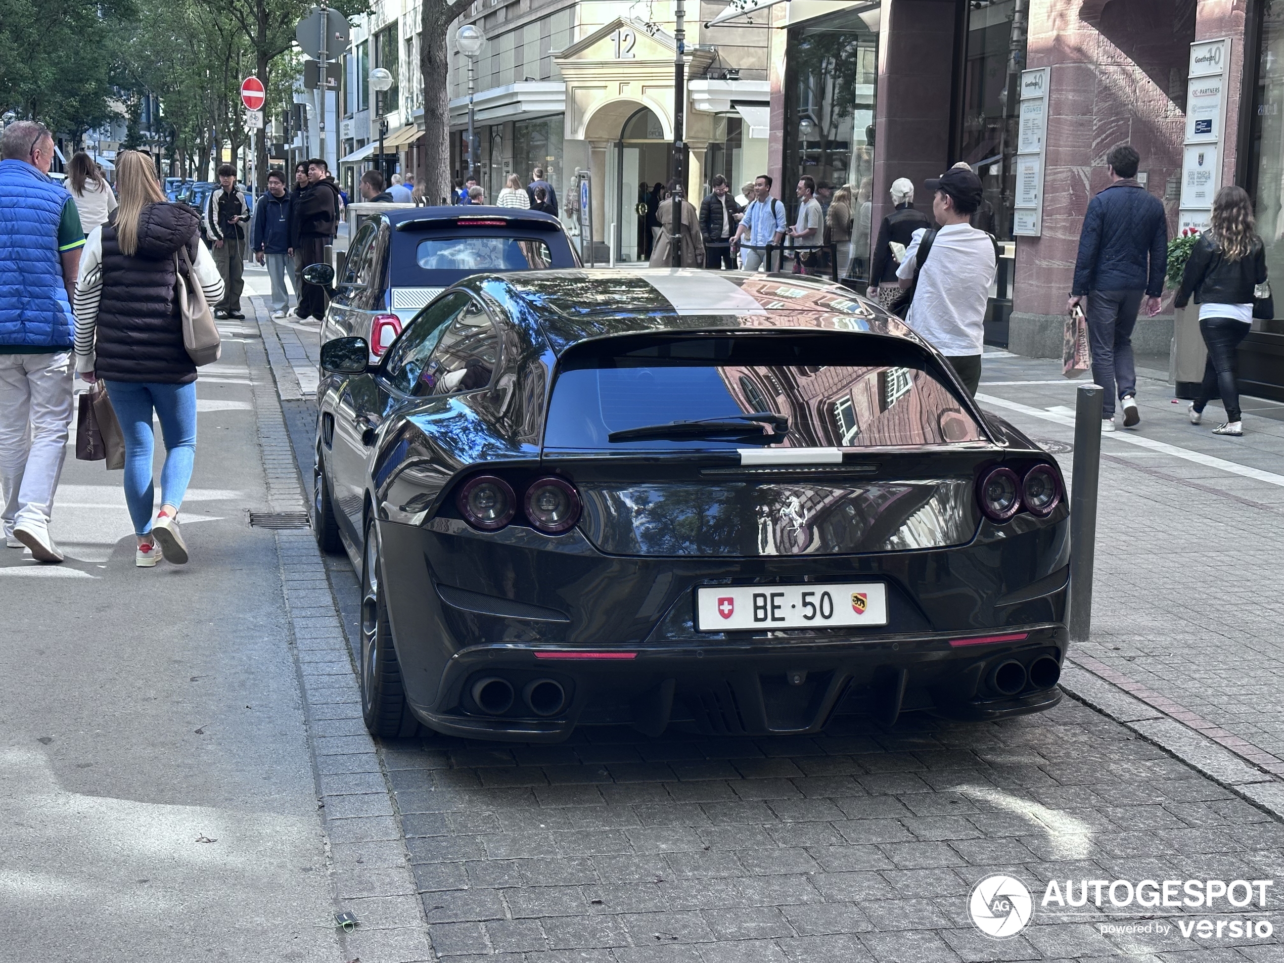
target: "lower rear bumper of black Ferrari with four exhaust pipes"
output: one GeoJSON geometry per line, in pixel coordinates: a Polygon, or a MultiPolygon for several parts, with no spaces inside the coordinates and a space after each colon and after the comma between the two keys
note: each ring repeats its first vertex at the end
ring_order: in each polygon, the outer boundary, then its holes
{"type": "Polygon", "coordinates": [[[684,641],[629,648],[478,645],[448,660],[435,705],[412,701],[412,707],[439,732],[528,742],[557,742],[583,724],[629,724],[648,734],[670,724],[707,733],[799,734],[846,713],[889,724],[903,711],[1002,719],[1061,701],[1055,683],[1066,647],[1066,627],[1059,624],[999,634],[684,641]],[[560,706],[548,698],[538,704],[544,715],[526,697],[541,683],[552,683],[538,690],[546,696],[559,688],[564,695],[560,706]],[[487,711],[479,698],[484,701],[488,690],[478,688],[487,684],[501,696],[508,691],[511,705],[487,711]]]}

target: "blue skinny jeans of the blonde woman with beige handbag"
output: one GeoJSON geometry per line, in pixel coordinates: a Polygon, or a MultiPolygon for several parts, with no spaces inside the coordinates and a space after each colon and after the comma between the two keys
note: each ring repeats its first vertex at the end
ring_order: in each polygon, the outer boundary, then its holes
{"type": "Polygon", "coordinates": [[[134,532],[152,530],[155,488],[152,484],[152,452],[155,437],[152,411],[160,419],[164,438],[164,467],[160,469],[160,503],[182,505],[196,457],[196,383],[105,381],[125,435],[125,503],[134,532]]]}

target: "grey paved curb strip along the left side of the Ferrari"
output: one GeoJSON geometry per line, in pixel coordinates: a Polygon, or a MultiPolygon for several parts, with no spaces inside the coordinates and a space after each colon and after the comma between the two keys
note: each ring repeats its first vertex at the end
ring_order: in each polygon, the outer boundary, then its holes
{"type": "MultiPolygon", "coordinates": [[[[306,507],[304,489],[280,398],[302,398],[302,393],[275,330],[263,320],[268,313],[262,299],[252,298],[250,303],[267,354],[262,366],[250,365],[250,381],[268,505],[272,511],[300,511],[306,507]],[[262,377],[263,367],[270,372],[267,380],[262,377]],[[282,372],[288,376],[282,377],[282,372]]],[[[280,530],[276,546],[290,623],[288,643],[303,696],[317,808],[335,883],[335,912],[351,912],[358,921],[353,932],[340,932],[344,959],[433,960],[428,921],[395,819],[392,787],[362,722],[352,650],[321,552],[308,530],[280,530]]]]}

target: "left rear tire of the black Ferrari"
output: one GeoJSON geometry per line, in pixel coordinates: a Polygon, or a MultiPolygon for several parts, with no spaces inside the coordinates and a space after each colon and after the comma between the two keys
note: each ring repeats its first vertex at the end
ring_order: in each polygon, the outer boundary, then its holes
{"type": "Polygon", "coordinates": [[[422,729],[402,687],[381,574],[379,534],[371,521],[361,564],[361,714],[371,736],[411,738],[422,729]]]}

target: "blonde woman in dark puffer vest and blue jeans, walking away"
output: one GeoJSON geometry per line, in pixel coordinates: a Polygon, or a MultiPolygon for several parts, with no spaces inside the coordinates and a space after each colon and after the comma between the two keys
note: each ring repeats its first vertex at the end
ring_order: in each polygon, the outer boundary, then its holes
{"type": "Polygon", "coordinates": [[[134,521],[134,562],[187,561],[178,508],[196,455],[196,366],[182,339],[175,282],[187,272],[209,304],[223,294],[213,254],[200,243],[200,218],[186,204],[166,200],[152,158],[122,150],[116,158],[119,207],[90,232],[76,281],[76,371],[103,379],[125,435],[125,502],[134,521]],[[155,489],[153,412],[160,421],[166,458],[160,511],[155,489]]]}

